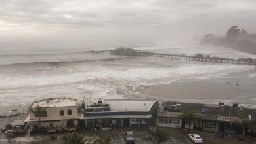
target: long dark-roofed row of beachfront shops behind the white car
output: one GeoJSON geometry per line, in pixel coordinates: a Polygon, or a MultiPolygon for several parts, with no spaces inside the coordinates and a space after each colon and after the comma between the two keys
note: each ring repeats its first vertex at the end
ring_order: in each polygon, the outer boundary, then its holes
{"type": "Polygon", "coordinates": [[[207,132],[223,132],[226,134],[242,133],[240,122],[242,117],[256,120],[256,109],[238,107],[233,105],[210,105],[202,103],[182,103],[165,101],[161,103],[158,111],[158,126],[173,128],[188,128],[187,120],[179,116],[184,111],[192,111],[196,120],[191,128],[197,128],[207,132]]]}

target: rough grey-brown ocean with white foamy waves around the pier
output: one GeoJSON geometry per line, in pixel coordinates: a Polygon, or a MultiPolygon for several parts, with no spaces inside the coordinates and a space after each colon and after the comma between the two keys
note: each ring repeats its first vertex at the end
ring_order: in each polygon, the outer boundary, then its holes
{"type": "MultiPolygon", "coordinates": [[[[255,67],[249,65],[116,56],[109,51],[114,48],[0,47],[0,107],[26,105],[54,97],[80,100],[85,97],[147,98],[147,94],[136,89],[146,85],[220,78],[232,73],[242,73],[243,77],[256,75],[255,67]]],[[[195,44],[148,44],[125,48],[191,56],[201,53],[225,58],[256,58],[232,48],[195,44]]]]}

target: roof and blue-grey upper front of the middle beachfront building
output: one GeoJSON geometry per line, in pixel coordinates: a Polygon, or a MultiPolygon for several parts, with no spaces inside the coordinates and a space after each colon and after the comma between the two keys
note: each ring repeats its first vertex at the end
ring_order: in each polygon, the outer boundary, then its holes
{"type": "Polygon", "coordinates": [[[105,99],[104,103],[100,101],[94,105],[87,105],[85,118],[134,117],[135,115],[149,117],[152,107],[158,107],[158,99],[105,99]]]}

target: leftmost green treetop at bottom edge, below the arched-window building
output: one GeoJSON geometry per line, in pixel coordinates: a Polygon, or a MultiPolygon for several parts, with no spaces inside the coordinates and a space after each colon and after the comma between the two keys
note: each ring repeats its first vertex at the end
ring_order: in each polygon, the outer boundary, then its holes
{"type": "Polygon", "coordinates": [[[77,132],[63,135],[62,141],[64,141],[65,144],[84,144],[85,143],[85,139],[83,135],[78,134],[77,132]]]}

